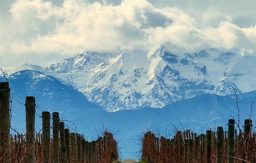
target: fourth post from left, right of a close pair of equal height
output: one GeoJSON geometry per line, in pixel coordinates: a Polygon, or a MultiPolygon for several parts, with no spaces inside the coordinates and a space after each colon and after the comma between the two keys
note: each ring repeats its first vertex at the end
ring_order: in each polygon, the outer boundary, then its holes
{"type": "Polygon", "coordinates": [[[59,130],[60,130],[59,113],[58,112],[53,112],[53,163],[60,163],[59,130]]]}

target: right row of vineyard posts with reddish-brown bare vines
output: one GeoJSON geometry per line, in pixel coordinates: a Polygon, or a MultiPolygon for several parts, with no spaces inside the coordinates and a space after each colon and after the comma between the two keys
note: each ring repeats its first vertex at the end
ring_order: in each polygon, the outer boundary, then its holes
{"type": "Polygon", "coordinates": [[[234,119],[229,119],[228,131],[223,131],[221,126],[217,131],[207,130],[200,135],[190,130],[177,131],[173,139],[157,138],[148,131],[142,140],[142,160],[146,163],[255,163],[256,134],[252,133],[252,120],[245,119],[244,131],[238,133],[234,119]]]}

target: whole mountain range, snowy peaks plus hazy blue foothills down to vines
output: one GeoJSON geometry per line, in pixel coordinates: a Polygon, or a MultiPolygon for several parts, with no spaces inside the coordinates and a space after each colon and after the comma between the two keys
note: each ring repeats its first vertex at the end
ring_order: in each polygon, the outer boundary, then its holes
{"type": "MultiPolygon", "coordinates": [[[[46,68],[20,63],[3,70],[12,94],[12,126],[19,131],[25,126],[24,99],[32,95],[37,114],[58,111],[87,139],[97,136],[99,126],[121,129],[115,136],[123,157],[131,158],[140,150],[138,136],[148,129],[161,135],[165,127],[172,133],[172,125],[197,133],[218,125],[225,129],[230,115],[237,119],[232,87],[241,121],[248,118],[256,99],[253,61],[253,56],[217,49],[173,54],[160,46],[121,53],[85,51],[46,68]]],[[[251,118],[256,119],[254,109],[251,118]]],[[[39,129],[41,121],[37,116],[39,129]]]]}

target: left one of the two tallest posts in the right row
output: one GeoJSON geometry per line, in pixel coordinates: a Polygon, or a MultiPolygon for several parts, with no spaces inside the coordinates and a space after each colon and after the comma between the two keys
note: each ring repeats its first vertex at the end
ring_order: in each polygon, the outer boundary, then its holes
{"type": "Polygon", "coordinates": [[[228,155],[229,163],[234,163],[234,148],[235,148],[235,120],[228,121],[228,155]]]}

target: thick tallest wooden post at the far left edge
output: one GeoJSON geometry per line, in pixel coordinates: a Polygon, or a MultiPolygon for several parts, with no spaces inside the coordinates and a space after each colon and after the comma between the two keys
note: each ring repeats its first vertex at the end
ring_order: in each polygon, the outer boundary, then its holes
{"type": "Polygon", "coordinates": [[[0,82],[0,162],[11,162],[9,83],[0,82]]]}

